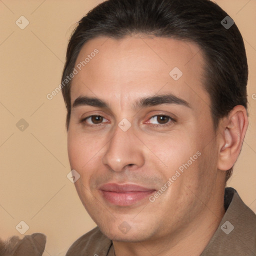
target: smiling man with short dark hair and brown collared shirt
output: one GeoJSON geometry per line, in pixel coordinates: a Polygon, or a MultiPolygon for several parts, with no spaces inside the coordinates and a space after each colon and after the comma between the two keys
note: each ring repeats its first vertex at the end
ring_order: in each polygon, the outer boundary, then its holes
{"type": "Polygon", "coordinates": [[[247,60],[208,0],[107,0],[62,75],[68,156],[97,227],[66,255],[256,255],[256,216],[226,188],[247,129],[247,60]]]}

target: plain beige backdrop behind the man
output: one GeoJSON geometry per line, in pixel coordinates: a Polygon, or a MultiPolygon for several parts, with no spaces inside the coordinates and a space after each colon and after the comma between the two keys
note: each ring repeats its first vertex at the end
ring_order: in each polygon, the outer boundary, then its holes
{"type": "MultiPolygon", "coordinates": [[[[70,169],[62,95],[48,100],[46,94],[60,83],[75,22],[99,2],[0,0],[0,237],[22,238],[15,226],[23,220],[29,226],[25,234],[47,235],[44,256],[64,255],[95,226],[66,177],[70,169]],[[24,29],[15,24],[21,15],[29,21],[24,29]],[[21,118],[29,124],[23,131],[16,127],[21,118]]],[[[250,71],[250,123],[228,185],[256,211],[256,0],[216,2],[243,35],[250,71]]]]}

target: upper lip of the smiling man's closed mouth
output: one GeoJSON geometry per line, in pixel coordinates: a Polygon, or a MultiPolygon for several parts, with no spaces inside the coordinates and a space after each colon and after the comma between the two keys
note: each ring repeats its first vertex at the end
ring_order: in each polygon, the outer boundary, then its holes
{"type": "Polygon", "coordinates": [[[153,188],[143,187],[135,184],[117,184],[117,183],[105,183],[99,187],[100,190],[116,192],[116,193],[125,193],[125,192],[143,192],[143,191],[152,191],[153,188]]]}

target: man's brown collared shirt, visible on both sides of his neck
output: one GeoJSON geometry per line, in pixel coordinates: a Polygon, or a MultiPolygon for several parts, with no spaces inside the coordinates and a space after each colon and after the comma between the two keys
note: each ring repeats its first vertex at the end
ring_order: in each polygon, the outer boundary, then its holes
{"type": "MultiPolygon", "coordinates": [[[[256,215],[232,187],[225,188],[226,212],[200,256],[256,256],[256,215]]],[[[66,256],[114,256],[112,241],[98,227],[78,238],[66,256]]]]}

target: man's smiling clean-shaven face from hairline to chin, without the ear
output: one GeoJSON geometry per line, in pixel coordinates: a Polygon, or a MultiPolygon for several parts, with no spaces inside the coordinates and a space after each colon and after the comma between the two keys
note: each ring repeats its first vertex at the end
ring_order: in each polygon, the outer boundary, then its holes
{"type": "Polygon", "coordinates": [[[98,37],[76,66],[88,55],[71,84],[68,156],[91,218],[118,241],[153,240],[200,221],[216,196],[218,145],[199,48],[98,37]]]}

